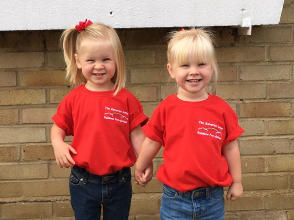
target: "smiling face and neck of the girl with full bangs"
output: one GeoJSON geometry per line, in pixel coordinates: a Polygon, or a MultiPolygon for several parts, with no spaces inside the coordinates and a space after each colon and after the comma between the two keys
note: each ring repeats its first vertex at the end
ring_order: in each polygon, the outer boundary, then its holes
{"type": "Polygon", "coordinates": [[[206,99],[206,86],[210,82],[213,66],[210,63],[201,63],[191,59],[180,66],[168,64],[172,79],[181,88],[178,98],[185,101],[201,101],[206,99]]]}

